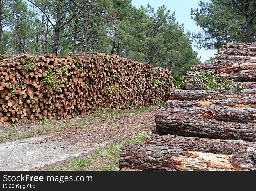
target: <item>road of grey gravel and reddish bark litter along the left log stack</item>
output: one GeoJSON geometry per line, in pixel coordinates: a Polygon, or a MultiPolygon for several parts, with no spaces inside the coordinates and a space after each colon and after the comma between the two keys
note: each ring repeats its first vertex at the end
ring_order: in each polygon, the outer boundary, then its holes
{"type": "Polygon", "coordinates": [[[155,122],[154,110],[155,107],[113,111],[54,122],[8,126],[0,131],[3,142],[0,144],[0,170],[30,170],[78,156],[91,156],[99,147],[151,131],[155,122]],[[15,136],[10,133],[13,131],[15,136]],[[12,140],[24,136],[32,137],[12,140]]]}

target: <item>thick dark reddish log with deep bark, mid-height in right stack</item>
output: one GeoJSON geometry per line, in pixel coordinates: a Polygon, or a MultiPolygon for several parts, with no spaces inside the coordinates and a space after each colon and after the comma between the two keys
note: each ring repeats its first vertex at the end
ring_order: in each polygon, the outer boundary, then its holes
{"type": "Polygon", "coordinates": [[[223,122],[202,115],[172,112],[172,109],[156,110],[157,134],[256,141],[255,123],[223,122]]]}

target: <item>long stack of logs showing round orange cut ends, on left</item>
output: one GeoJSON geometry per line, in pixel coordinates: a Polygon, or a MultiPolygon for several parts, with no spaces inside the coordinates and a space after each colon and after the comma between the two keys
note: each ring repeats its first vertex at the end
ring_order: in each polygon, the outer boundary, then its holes
{"type": "Polygon", "coordinates": [[[0,56],[0,125],[88,115],[100,107],[151,106],[167,100],[173,88],[167,69],[116,55],[0,56]]]}

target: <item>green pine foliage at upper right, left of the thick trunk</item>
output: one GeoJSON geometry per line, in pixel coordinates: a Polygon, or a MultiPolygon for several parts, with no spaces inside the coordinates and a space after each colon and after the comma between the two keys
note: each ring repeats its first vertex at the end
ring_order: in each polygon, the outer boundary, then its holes
{"type": "MultiPolygon", "coordinates": [[[[242,2],[248,1],[237,1],[242,2]]],[[[191,10],[192,19],[202,28],[202,32],[192,35],[198,48],[219,49],[227,42],[246,40],[246,17],[232,0],[200,1],[199,6],[191,10]]]]}

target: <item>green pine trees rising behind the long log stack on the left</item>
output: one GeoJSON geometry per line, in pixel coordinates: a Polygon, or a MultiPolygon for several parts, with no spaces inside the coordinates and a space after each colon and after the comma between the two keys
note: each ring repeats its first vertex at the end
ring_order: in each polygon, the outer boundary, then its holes
{"type": "Polygon", "coordinates": [[[166,6],[131,0],[0,0],[0,52],[118,54],[182,76],[201,63],[166,6]]]}

